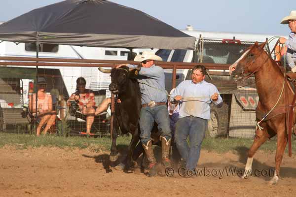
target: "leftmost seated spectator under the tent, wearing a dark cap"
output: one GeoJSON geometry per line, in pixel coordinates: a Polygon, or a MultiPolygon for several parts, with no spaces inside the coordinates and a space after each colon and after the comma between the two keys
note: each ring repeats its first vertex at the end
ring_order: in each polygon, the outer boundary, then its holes
{"type": "Polygon", "coordinates": [[[44,77],[38,77],[37,80],[37,110],[36,110],[36,94],[29,95],[29,110],[34,116],[40,120],[37,126],[37,136],[40,135],[40,131],[43,125],[46,124],[43,134],[50,129],[56,119],[56,111],[52,110],[52,98],[51,95],[45,92],[46,80],[44,77]]]}

